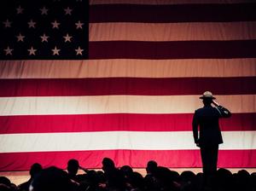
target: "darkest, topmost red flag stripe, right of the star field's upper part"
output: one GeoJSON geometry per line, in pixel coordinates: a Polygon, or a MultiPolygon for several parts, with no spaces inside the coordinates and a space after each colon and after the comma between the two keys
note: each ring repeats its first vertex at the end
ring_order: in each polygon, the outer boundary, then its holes
{"type": "Polygon", "coordinates": [[[90,22],[226,22],[256,20],[255,3],[90,5],[90,22]]]}

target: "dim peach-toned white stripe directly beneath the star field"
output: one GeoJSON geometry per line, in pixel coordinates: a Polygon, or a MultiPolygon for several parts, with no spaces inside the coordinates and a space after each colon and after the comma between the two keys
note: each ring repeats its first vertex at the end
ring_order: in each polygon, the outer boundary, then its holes
{"type": "Polygon", "coordinates": [[[189,78],[256,76],[256,58],[0,61],[0,78],[189,78]]]}

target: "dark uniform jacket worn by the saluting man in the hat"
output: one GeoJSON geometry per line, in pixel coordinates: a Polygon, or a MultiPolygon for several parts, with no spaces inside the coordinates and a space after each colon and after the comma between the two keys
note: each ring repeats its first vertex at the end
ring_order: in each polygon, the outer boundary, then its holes
{"type": "Polygon", "coordinates": [[[223,143],[218,119],[229,118],[230,116],[230,111],[221,106],[205,106],[195,110],[192,122],[195,143],[199,143],[199,146],[223,143]],[[199,137],[198,126],[200,127],[199,137]]]}

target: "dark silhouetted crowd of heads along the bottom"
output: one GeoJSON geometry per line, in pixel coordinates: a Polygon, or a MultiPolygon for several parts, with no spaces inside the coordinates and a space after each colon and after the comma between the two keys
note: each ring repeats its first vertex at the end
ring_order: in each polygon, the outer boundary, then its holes
{"type": "Polygon", "coordinates": [[[179,175],[154,160],[148,161],[146,171],[143,177],[129,165],[115,167],[108,158],[102,160],[102,171],[83,168],[76,159],[68,161],[67,171],[55,166],[43,169],[36,163],[31,167],[31,178],[18,186],[0,177],[0,191],[256,191],[256,172],[232,174],[222,168],[207,178],[192,171],[179,175]],[[79,169],[84,174],[78,175],[79,169]]]}

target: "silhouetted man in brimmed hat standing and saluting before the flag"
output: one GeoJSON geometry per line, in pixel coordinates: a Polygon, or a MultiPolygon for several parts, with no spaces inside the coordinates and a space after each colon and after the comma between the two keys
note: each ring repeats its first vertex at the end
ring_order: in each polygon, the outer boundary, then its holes
{"type": "Polygon", "coordinates": [[[193,135],[196,146],[201,148],[203,172],[209,176],[217,171],[218,144],[223,143],[218,119],[229,118],[231,113],[228,109],[220,106],[218,102],[213,101],[216,98],[210,91],[206,91],[200,99],[202,99],[204,107],[195,110],[192,123],[193,135]],[[212,104],[215,107],[212,107],[212,104]]]}

